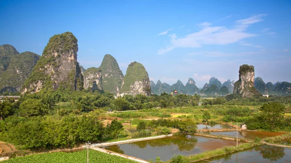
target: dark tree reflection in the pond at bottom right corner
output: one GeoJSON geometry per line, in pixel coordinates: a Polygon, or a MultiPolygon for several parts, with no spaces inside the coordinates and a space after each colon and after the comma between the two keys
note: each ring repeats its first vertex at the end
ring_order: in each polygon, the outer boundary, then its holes
{"type": "Polygon", "coordinates": [[[259,146],[255,148],[255,150],[259,151],[264,159],[269,159],[271,161],[280,160],[285,156],[284,148],[282,147],[259,146]]]}

